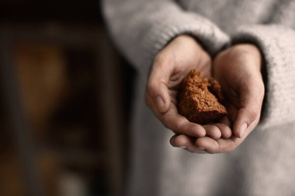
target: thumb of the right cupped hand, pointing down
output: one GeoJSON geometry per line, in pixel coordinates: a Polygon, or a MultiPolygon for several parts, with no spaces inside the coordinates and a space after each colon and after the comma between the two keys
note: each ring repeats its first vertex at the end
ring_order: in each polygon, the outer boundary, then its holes
{"type": "Polygon", "coordinates": [[[233,124],[233,131],[236,137],[242,138],[247,127],[260,117],[263,97],[263,83],[249,81],[241,89],[241,108],[238,110],[233,124]]]}

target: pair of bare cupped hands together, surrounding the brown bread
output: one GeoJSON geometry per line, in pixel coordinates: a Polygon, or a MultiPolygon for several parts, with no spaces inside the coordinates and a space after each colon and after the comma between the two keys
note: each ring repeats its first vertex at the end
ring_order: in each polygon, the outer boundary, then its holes
{"type": "Polygon", "coordinates": [[[176,133],[174,147],[196,153],[234,150],[259,122],[264,97],[261,54],[250,44],[220,52],[212,61],[198,42],[180,35],[154,59],[146,88],[146,103],[163,125],[176,133]],[[213,68],[213,69],[212,69],[213,68]],[[177,90],[191,69],[213,73],[225,94],[228,116],[206,125],[189,122],[177,112],[177,90]],[[234,133],[234,134],[232,134],[234,133]]]}

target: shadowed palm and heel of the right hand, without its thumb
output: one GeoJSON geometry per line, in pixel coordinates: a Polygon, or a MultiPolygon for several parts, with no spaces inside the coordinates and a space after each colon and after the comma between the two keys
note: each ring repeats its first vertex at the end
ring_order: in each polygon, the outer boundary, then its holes
{"type": "MultiPolygon", "coordinates": [[[[213,76],[220,82],[221,90],[226,99],[225,106],[228,111],[228,118],[232,123],[236,120],[236,115],[240,109],[245,107],[245,94],[249,88],[260,84],[261,74],[252,59],[241,52],[220,53],[214,60],[213,76]],[[239,55],[238,55],[239,54],[239,55]],[[238,57],[236,57],[238,56],[238,57]],[[249,63],[250,62],[250,63],[249,63]],[[258,79],[257,79],[258,78],[258,79]]],[[[258,88],[259,89],[259,88],[258,88]]]]}

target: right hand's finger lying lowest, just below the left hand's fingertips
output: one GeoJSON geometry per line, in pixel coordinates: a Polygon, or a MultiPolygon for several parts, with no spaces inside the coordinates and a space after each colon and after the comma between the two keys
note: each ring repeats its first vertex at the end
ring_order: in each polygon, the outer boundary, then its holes
{"type": "Polygon", "coordinates": [[[241,140],[241,139],[235,137],[235,139],[220,138],[218,140],[213,140],[212,138],[209,138],[209,137],[202,137],[202,138],[196,139],[195,145],[197,147],[204,148],[205,151],[208,153],[230,152],[236,149],[238,144],[240,144],[240,141],[238,140],[241,140]]]}

